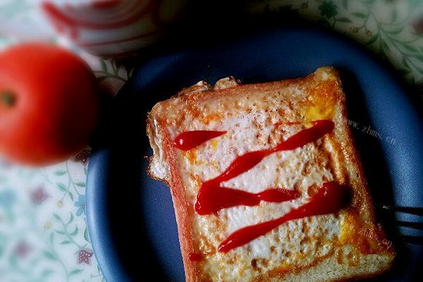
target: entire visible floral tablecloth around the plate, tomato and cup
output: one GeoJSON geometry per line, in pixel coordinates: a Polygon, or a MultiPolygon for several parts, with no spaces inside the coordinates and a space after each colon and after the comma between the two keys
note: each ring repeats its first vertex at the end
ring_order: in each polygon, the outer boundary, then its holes
{"type": "MultiPolygon", "coordinates": [[[[423,1],[247,1],[254,15],[290,11],[356,39],[389,61],[403,79],[423,85],[423,1]]],[[[0,49],[28,39],[57,41],[35,0],[0,0],[0,49]]],[[[69,46],[70,47],[70,46],[69,46]]],[[[75,50],[116,94],[131,68],[75,50]]],[[[420,87],[418,87],[420,85],[420,87]]],[[[1,122],[1,121],[0,121],[1,122]]],[[[85,218],[90,149],[61,164],[27,168],[0,159],[0,281],[104,281],[85,218]]]]}

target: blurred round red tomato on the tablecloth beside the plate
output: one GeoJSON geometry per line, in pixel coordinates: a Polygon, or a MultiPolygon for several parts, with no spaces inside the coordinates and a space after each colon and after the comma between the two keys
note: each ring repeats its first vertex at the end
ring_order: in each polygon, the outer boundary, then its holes
{"type": "Polygon", "coordinates": [[[25,43],[0,53],[0,152],[23,164],[63,161],[88,145],[99,91],[78,56],[25,43]]]}

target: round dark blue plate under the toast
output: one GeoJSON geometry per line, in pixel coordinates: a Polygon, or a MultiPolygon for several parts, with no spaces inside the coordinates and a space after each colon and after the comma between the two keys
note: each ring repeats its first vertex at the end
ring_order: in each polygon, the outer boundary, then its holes
{"type": "MultiPolygon", "coordinates": [[[[184,281],[169,189],[147,176],[151,155],[147,111],[199,80],[233,75],[264,82],[297,78],[320,66],[343,76],[348,114],[376,206],[423,204],[423,127],[395,75],[364,49],[338,35],[306,27],[259,32],[207,49],[178,51],[144,63],[114,100],[94,145],[87,179],[87,216],[95,255],[107,281],[184,281]],[[372,131],[373,130],[373,131],[372,131]],[[148,263],[142,264],[141,257],[148,263]]],[[[398,258],[381,281],[412,281],[423,249],[407,245],[393,214],[377,209],[398,258]]],[[[419,221],[398,215],[397,219],[419,221]]]]}

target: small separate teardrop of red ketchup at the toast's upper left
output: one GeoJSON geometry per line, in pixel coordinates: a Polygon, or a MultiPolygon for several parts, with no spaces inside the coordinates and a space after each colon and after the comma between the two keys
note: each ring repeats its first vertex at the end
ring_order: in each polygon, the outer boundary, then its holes
{"type": "Polygon", "coordinates": [[[194,130],[180,133],[173,140],[173,145],[183,151],[188,151],[197,147],[198,145],[225,134],[226,131],[212,131],[212,130],[194,130]]]}

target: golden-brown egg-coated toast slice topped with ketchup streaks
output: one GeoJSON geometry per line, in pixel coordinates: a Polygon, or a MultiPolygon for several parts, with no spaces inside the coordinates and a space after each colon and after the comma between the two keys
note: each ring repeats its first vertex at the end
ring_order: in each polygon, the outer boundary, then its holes
{"type": "Polygon", "coordinates": [[[149,175],[171,188],[186,281],[345,281],[388,270],[334,68],[201,81],[147,118],[149,175]]]}

